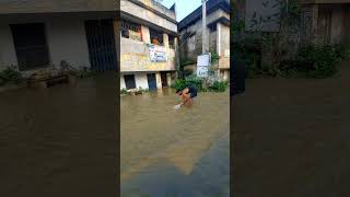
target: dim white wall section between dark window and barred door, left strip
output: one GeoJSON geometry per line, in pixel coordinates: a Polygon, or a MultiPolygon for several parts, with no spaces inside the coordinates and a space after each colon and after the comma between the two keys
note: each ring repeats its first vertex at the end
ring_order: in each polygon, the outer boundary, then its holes
{"type": "Polygon", "coordinates": [[[47,42],[51,63],[66,60],[71,66],[90,67],[84,20],[55,19],[47,23],[47,42]]]}

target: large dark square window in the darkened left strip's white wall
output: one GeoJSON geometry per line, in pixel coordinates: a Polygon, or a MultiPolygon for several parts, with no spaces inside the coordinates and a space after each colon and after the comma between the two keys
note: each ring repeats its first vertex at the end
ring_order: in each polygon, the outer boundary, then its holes
{"type": "Polygon", "coordinates": [[[10,27],[21,71],[49,65],[44,23],[11,24],[10,27]]]}

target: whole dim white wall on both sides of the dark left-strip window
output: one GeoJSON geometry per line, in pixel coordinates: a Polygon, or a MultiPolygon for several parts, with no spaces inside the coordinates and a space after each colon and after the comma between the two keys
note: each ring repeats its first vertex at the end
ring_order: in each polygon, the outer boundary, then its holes
{"type": "Polygon", "coordinates": [[[74,67],[90,67],[84,18],[32,16],[0,20],[0,70],[9,65],[18,66],[18,58],[9,24],[45,23],[50,63],[67,60],[74,67]]]}

